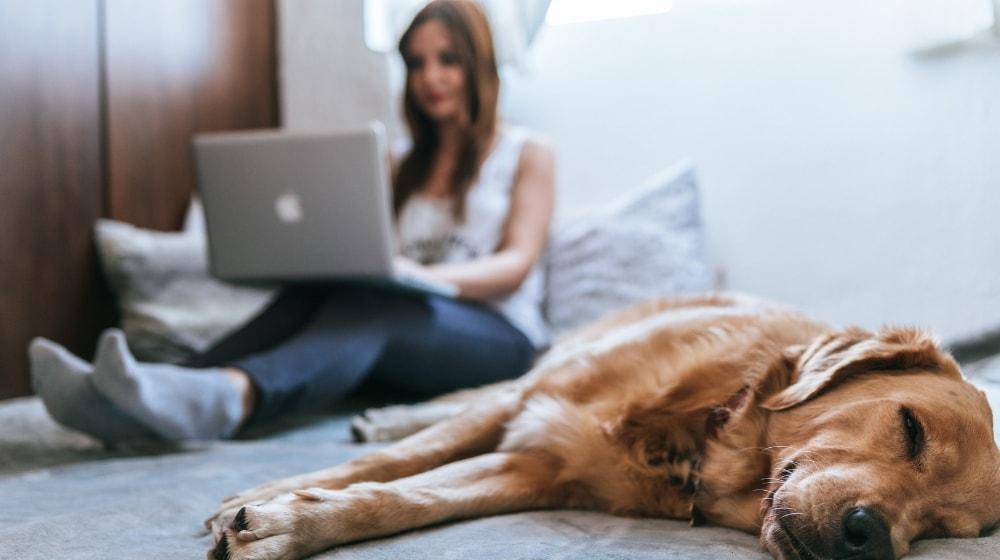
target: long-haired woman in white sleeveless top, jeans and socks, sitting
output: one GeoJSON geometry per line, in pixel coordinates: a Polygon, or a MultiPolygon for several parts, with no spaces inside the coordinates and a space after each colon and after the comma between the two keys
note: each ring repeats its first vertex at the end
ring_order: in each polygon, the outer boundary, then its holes
{"type": "Polygon", "coordinates": [[[489,26],[471,1],[436,0],[400,40],[412,149],[396,166],[399,266],[458,299],[384,288],[287,289],[184,366],[137,362],[105,332],[93,364],[36,339],[36,391],[52,416],[106,441],[232,436],[321,409],[362,381],[430,396],[512,378],[546,343],[539,258],[551,151],[497,119],[489,26]]]}

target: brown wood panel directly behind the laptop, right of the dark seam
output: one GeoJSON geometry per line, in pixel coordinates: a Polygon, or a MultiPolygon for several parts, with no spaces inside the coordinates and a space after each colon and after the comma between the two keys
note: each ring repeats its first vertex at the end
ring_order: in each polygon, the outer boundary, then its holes
{"type": "Polygon", "coordinates": [[[105,0],[112,218],[169,230],[196,131],[277,125],[272,0],[105,0]]]}

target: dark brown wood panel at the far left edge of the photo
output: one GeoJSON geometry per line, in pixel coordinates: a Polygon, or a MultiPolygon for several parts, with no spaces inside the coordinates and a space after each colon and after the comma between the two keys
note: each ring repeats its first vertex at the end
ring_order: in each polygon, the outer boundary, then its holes
{"type": "Polygon", "coordinates": [[[0,398],[30,392],[31,337],[89,355],[108,321],[98,61],[97,0],[0,0],[0,398]]]}

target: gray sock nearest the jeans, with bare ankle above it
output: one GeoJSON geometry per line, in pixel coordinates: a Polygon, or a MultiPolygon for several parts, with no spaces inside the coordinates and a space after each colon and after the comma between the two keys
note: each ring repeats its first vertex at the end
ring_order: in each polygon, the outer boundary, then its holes
{"type": "Polygon", "coordinates": [[[101,336],[94,386],[169,440],[226,438],[243,417],[243,399],[221,369],[137,362],[117,329],[101,336]]]}

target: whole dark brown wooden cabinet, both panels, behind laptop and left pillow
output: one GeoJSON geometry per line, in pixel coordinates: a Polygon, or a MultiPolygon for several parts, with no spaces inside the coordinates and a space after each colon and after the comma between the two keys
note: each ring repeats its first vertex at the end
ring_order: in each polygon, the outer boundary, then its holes
{"type": "Polygon", "coordinates": [[[113,324],[92,226],[179,226],[202,130],[278,125],[273,0],[0,0],[0,398],[113,324]]]}

